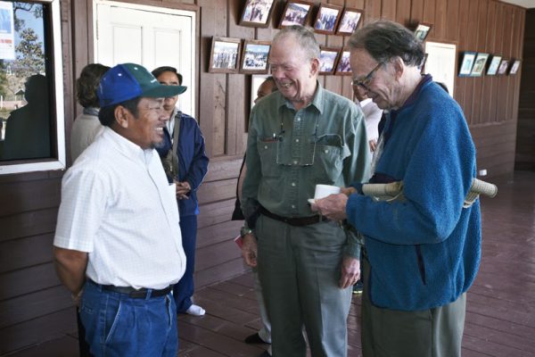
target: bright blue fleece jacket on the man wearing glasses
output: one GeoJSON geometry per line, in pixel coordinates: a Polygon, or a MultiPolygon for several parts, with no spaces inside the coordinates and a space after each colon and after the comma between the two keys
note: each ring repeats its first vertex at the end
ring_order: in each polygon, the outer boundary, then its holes
{"type": "Polygon", "coordinates": [[[479,201],[463,208],[476,172],[459,105],[430,77],[391,111],[375,177],[403,180],[405,202],[351,195],[350,223],[365,236],[374,305],[417,311],[454,302],[481,259],[479,201]]]}

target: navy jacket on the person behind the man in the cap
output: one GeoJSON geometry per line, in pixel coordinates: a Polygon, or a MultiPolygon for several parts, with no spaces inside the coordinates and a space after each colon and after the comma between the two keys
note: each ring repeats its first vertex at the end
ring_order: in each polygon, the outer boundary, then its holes
{"type": "MultiPolygon", "coordinates": [[[[208,172],[208,156],[204,152],[204,137],[197,121],[193,117],[178,112],[175,117],[175,125],[180,125],[178,136],[178,177],[179,182],[187,181],[192,187],[189,199],[178,200],[178,212],[180,217],[199,214],[199,204],[197,203],[197,189],[201,186],[202,180],[208,172]]],[[[160,156],[165,156],[172,148],[169,131],[164,129],[164,142],[156,150],[160,156]]],[[[173,182],[172,178],[168,178],[173,182]]]]}

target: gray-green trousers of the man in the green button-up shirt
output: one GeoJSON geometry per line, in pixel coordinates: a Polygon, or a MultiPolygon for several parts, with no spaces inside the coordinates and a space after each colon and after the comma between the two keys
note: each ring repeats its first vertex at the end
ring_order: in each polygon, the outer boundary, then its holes
{"type": "Polygon", "coordinates": [[[351,288],[341,289],[345,232],[333,222],[293,227],[260,216],[258,267],[274,357],[347,356],[351,288]]]}

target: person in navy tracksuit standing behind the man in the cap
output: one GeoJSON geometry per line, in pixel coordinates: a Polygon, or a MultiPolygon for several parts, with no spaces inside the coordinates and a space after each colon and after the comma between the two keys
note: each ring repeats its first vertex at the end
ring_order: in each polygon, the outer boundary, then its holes
{"type": "MultiPolygon", "coordinates": [[[[186,87],[182,86],[182,75],[175,68],[159,67],[152,71],[152,75],[163,85],[182,87],[179,94],[185,92],[186,87]]],[[[169,183],[175,182],[177,185],[180,231],[186,257],[184,277],[173,288],[177,312],[202,316],[206,311],[192,302],[193,271],[195,270],[197,214],[199,214],[197,189],[208,172],[209,159],[204,153],[204,137],[202,137],[197,121],[178,111],[177,100],[178,95],[164,100],[163,109],[169,114],[169,121],[164,129],[164,142],[156,150],[164,162],[169,183]],[[174,143],[175,137],[177,143],[174,143]],[[169,160],[165,160],[167,157],[169,160]]]]}

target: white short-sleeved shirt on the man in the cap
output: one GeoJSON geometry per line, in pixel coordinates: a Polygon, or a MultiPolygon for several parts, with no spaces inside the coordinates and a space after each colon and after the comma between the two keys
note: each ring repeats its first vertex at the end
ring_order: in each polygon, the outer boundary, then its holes
{"type": "Polygon", "coordinates": [[[106,128],[62,179],[53,245],[89,253],[99,284],[161,289],[184,274],[178,221],[156,151],[106,128]]]}

